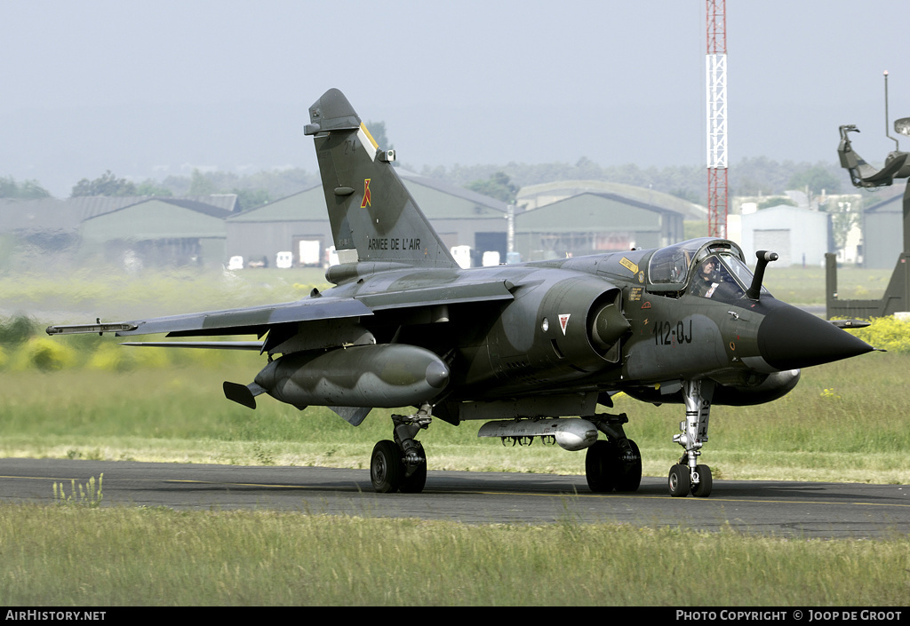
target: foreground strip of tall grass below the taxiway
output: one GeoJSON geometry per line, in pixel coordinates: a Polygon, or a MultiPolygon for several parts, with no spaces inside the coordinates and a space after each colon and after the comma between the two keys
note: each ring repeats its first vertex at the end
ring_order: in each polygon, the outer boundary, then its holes
{"type": "MultiPolygon", "coordinates": [[[[0,603],[903,606],[905,539],[0,507],[0,603]],[[692,584],[691,573],[710,584],[692,584]]],[[[301,514],[302,513],[302,514],[301,514]]]]}

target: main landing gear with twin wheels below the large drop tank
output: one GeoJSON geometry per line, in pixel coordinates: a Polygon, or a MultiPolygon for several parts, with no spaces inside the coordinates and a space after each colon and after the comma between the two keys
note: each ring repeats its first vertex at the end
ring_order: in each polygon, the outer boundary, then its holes
{"type": "Polygon", "coordinates": [[[432,421],[432,408],[424,404],[414,415],[392,415],[394,441],[383,439],[373,447],[369,480],[379,493],[420,493],[427,482],[427,456],[414,439],[432,421]]]}

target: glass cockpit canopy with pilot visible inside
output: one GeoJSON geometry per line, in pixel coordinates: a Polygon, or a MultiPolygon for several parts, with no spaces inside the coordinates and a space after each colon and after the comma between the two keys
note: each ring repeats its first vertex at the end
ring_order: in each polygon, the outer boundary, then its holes
{"type": "MultiPolygon", "coordinates": [[[[648,263],[648,290],[690,293],[732,302],[752,285],[743,250],[726,239],[702,237],[656,250],[648,263]]],[[[762,288],[762,293],[768,291],[762,288]]]]}

